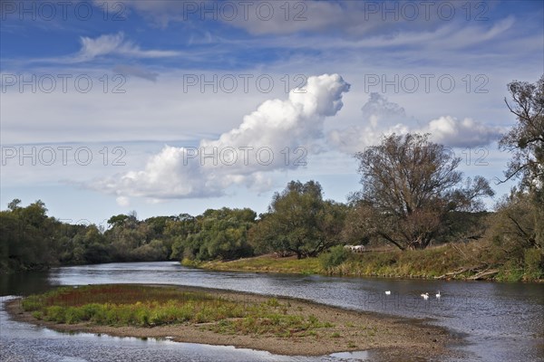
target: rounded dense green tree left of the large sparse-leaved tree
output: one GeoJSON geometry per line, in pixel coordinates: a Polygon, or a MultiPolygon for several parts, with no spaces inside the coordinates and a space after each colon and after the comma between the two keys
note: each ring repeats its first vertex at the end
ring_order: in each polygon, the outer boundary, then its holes
{"type": "Polygon", "coordinates": [[[267,214],[251,232],[260,250],[292,252],[298,259],[316,256],[340,243],[345,205],[323,200],[321,185],[291,181],[276,193],[267,214]]]}

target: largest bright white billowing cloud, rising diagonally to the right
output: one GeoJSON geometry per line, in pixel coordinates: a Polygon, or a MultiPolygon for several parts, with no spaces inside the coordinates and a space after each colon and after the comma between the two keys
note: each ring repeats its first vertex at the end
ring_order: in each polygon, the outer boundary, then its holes
{"type": "Polygon", "coordinates": [[[338,74],[309,77],[287,100],[263,102],[217,139],[203,139],[198,148],[165,146],[143,170],[88,187],[151,199],[219,196],[229,186],[267,190],[273,171],[304,165],[307,150],[323,138],[325,118],[342,109],[349,87],[338,74]]]}

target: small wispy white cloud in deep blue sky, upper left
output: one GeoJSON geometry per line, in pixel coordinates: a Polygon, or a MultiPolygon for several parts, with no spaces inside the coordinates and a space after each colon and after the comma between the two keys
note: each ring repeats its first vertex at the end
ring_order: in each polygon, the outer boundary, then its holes
{"type": "Polygon", "coordinates": [[[140,46],[124,39],[123,33],[104,34],[97,38],[82,36],[82,49],[76,54],[75,60],[80,62],[91,61],[103,55],[121,55],[135,58],[163,58],[179,55],[179,52],[141,50],[140,46]]]}

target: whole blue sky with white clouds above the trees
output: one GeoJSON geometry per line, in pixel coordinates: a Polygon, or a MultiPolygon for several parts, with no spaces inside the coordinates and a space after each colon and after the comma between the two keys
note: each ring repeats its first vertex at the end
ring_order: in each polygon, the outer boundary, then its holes
{"type": "Polygon", "coordinates": [[[510,81],[544,73],[541,1],[0,1],[1,208],[267,211],[345,202],[355,152],[429,133],[496,185],[510,81]]]}

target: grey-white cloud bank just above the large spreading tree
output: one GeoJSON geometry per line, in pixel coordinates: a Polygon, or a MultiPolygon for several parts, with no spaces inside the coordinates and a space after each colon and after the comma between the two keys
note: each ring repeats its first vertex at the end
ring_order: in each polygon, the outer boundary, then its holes
{"type": "Polygon", "coordinates": [[[500,138],[504,129],[482,124],[473,119],[442,116],[420,127],[411,127],[415,119],[406,116],[400,105],[390,102],[379,93],[371,93],[364,104],[361,125],[348,129],[333,129],[327,140],[338,150],[354,154],[374,146],[384,136],[408,132],[430,133],[433,142],[453,148],[487,146],[500,138]]]}

